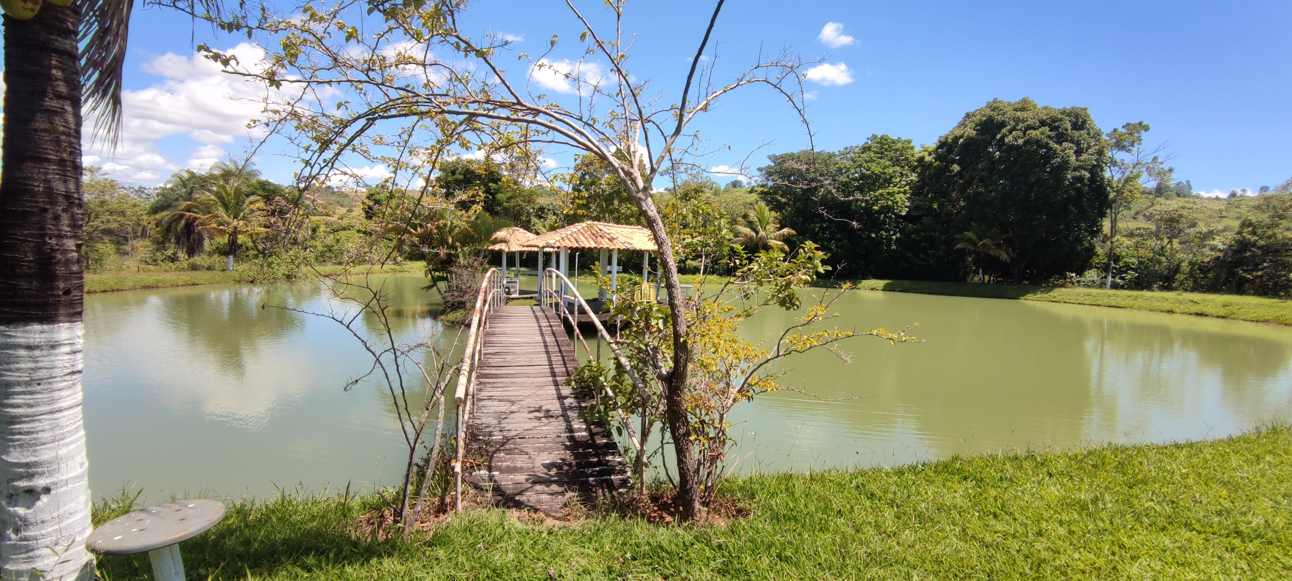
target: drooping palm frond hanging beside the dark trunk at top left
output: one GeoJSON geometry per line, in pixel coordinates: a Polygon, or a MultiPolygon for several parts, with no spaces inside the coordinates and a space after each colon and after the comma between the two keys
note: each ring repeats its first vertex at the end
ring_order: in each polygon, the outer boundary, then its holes
{"type": "Polygon", "coordinates": [[[81,3],[81,96],[94,117],[92,142],[116,148],[121,132],[121,74],[133,0],[81,3]]]}

